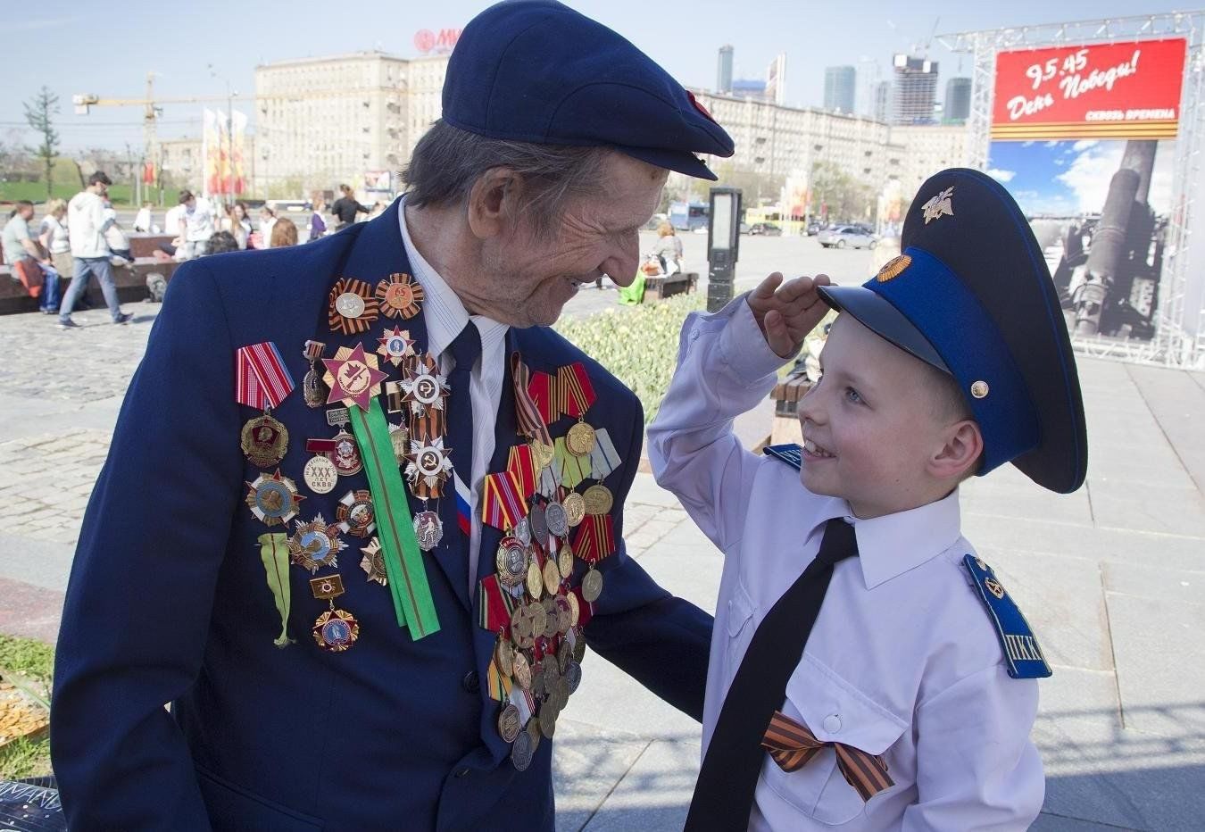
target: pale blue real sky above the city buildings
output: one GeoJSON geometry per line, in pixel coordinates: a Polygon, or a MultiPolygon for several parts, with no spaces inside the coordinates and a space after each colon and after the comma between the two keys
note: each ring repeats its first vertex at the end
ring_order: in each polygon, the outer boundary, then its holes
{"type": "MultiPolygon", "coordinates": [[[[184,98],[219,95],[225,82],[254,90],[254,66],[286,58],[380,48],[413,55],[419,29],[463,27],[488,2],[442,0],[358,0],[353,4],[288,4],[245,0],[172,4],[163,0],[66,0],[24,4],[6,16],[5,58],[10,82],[0,87],[0,141],[31,142],[22,101],[41,84],[60,96],[59,128],[64,146],[120,148],[140,145],[141,112],[134,107],[71,112],[72,93],[141,98],[148,71],[158,74],[157,94],[184,98]]],[[[1171,11],[1180,2],[1069,0],[1060,4],[1013,0],[970,4],[912,0],[857,4],[800,0],[721,2],[647,2],[647,0],[574,0],[569,5],[616,29],[652,55],[682,83],[711,88],[716,51],[735,47],[736,75],[762,77],[769,61],[787,53],[789,104],[823,101],[824,68],[853,64],[887,77],[893,52],[923,45],[930,34],[1018,27],[1060,20],[1171,11]]],[[[930,58],[941,64],[941,87],[953,75],[969,75],[970,61],[939,43],[930,58]]],[[[160,135],[198,135],[201,105],[167,105],[160,135]]]]}

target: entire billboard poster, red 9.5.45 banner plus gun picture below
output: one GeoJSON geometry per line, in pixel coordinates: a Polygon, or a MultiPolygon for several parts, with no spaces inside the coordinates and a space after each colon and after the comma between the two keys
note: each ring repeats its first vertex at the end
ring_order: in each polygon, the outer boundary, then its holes
{"type": "Polygon", "coordinates": [[[1185,39],[997,54],[989,172],[1029,217],[1076,336],[1154,336],[1185,39]]]}

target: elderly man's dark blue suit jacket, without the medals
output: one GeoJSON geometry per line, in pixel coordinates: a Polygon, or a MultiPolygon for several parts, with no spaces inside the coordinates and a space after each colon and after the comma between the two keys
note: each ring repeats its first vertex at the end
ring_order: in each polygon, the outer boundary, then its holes
{"type": "MultiPolygon", "coordinates": [[[[553,828],[552,743],[540,744],[528,771],[511,764],[498,703],[481,684],[495,634],[477,626],[463,559],[447,541],[424,556],[439,633],[413,640],[398,627],[389,592],[360,572],[363,541],[348,538],[339,563],[347,592],[336,605],[359,620],[357,644],[343,654],[316,646],[310,628],[327,603],[296,567],[288,625],[296,643],[272,644],[280,616],[257,538],[292,528],[269,529],[243,502],[259,469],[239,449],[254,414],[234,398],[235,350],[274,341],[300,382],[306,339],[324,341],[330,357],[375,339],[386,322],[360,338],[331,334],[334,281],[398,271],[410,268],[394,203],[335,236],[187,263],[171,281],[66,594],[51,749],[72,830],[553,828]]],[[[425,345],[422,316],[404,326],[425,345]]],[[[598,393],[588,421],[607,428],[624,461],[607,479],[619,537],[640,458],[639,402],[549,329],[509,338],[533,370],[586,364],[598,393]]],[[[364,474],[340,477],[330,494],[310,492],[305,439],[331,435],[324,410],[306,408],[296,389],[274,415],[290,436],[280,468],[306,497],[298,517],[331,520],[340,496],[368,487],[364,474]]],[[[570,423],[552,426],[553,435],[570,423]]],[[[492,471],[516,443],[509,382],[496,430],[492,471]]],[[[499,540],[483,532],[478,578],[493,570],[499,540]]],[[[588,644],[699,719],[710,616],[657,586],[622,545],[601,569],[588,644]]],[[[587,661],[583,684],[589,674],[587,661]]]]}

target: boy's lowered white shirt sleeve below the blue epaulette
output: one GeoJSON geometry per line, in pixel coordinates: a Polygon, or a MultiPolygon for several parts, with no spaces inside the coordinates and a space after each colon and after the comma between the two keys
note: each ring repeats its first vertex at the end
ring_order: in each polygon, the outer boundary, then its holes
{"type": "Polygon", "coordinates": [[[1046,783],[1029,739],[1038,682],[993,666],[922,702],[916,711],[917,803],[912,830],[1025,830],[1042,808],[1046,783]]]}

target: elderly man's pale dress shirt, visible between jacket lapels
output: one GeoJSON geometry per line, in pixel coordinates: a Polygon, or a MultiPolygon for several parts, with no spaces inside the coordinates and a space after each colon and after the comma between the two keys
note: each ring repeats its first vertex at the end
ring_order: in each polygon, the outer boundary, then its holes
{"type": "MultiPolygon", "coordinates": [[[[469,399],[472,402],[472,481],[469,487],[469,512],[472,532],[469,535],[469,597],[477,591],[477,549],[481,546],[481,512],[477,510],[481,499],[481,484],[486,479],[489,461],[494,456],[494,423],[498,421],[498,404],[502,397],[502,382],[506,380],[506,330],[505,323],[499,323],[483,315],[472,315],[465,310],[455,292],[440,277],[410,239],[406,228],[406,200],[398,206],[398,222],[401,225],[401,241],[406,247],[406,257],[413,277],[423,286],[427,299],[423,301],[423,322],[427,324],[427,351],[439,356],[440,373],[447,375],[455,362],[452,359],[452,341],[471,321],[481,333],[481,358],[474,365],[469,377],[469,399]]],[[[457,471],[463,476],[463,471],[457,471]]],[[[452,485],[451,482],[448,484],[452,485]]],[[[447,490],[446,490],[447,491],[447,490]]],[[[452,493],[445,493],[442,499],[455,499],[452,493]]]]}

